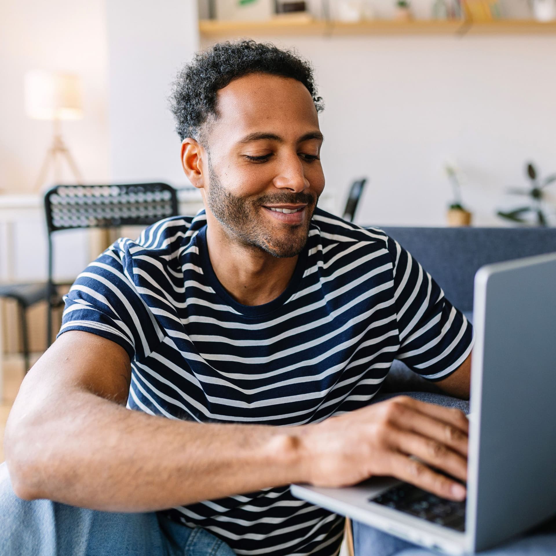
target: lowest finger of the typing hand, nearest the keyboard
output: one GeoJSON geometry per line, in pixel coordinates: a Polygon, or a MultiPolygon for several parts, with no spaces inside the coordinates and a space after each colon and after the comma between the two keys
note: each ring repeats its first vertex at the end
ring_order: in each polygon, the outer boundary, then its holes
{"type": "Polygon", "coordinates": [[[457,481],[435,473],[420,461],[401,454],[393,455],[391,473],[396,479],[411,483],[441,498],[464,500],[466,496],[465,487],[457,481]]]}

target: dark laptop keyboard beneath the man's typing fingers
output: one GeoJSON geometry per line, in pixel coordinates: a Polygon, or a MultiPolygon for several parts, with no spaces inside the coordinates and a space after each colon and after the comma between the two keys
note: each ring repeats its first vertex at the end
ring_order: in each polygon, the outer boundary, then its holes
{"type": "Polygon", "coordinates": [[[382,504],[456,531],[465,530],[465,500],[455,502],[440,498],[409,483],[394,486],[375,498],[369,498],[369,502],[382,504]]]}

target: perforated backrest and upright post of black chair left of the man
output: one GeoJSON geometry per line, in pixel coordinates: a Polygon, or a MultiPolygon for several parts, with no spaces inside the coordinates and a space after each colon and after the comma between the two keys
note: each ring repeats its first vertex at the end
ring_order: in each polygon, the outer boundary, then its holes
{"type": "Polygon", "coordinates": [[[52,341],[52,309],[63,304],[52,277],[52,234],[61,230],[148,226],[178,215],[177,192],[167,183],[57,185],[44,194],[48,230],[47,344],[52,341]]]}

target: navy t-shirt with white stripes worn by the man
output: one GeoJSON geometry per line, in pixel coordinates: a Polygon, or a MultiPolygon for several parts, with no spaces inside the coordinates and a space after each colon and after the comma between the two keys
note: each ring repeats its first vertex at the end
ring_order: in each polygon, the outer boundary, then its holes
{"type": "MultiPolygon", "coordinates": [[[[430,275],[379,229],[316,209],[289,285],[264,305],[224,289],[206,216],[120,239],[78,276],[60,334],[85,330],[131,358],[129,409],[202,423],[315,423],[368,405],[394,359],[439,380],[473,330],[430,275]]],[[[237,554],[336,554],[343,518],[287,486],[169,509],[237,554]]]]}

